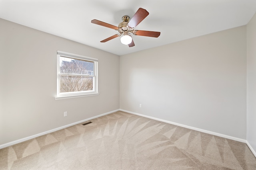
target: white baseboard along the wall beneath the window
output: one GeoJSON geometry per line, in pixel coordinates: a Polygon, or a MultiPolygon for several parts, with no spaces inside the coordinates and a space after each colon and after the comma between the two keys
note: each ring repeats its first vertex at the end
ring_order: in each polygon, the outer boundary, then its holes
{"type": "Polygon", "coordinates": [[[39,137],[39,136],[42,136],[42,135],[46,135],[48,133],[52,133],[52,132],[55,132],[55,131],[58,131],[58,130],[61,130],[61,129],[64,129],[64,128],[67,128],[67,127],[70,127],[70,126],[74,126],[76,124],[79,124],[79,123],[83,123],[85,121],[89,121],[89,120],[92,120],[92,119],[95,119],[95,118],[98,118],[98,117],[101,117],[101,116],[104,116],[104,115],[108,115],[110,113],[114,113],[116,111],[119,111],[119,109],[117,110],[113,110],[113,111],[110,111],[110,112],[107,112],[107,113],[103,113],[103,114],[100,114],[100,115],[97,115],[97,116],[94,116],[94,117],[90,117],[88,119],[84,119],[84,120],[81,120],[81,121],[78,121],[78,122],[75,122],[75,123],[71,123],[71,124],[68,124],[68,125],[65,125],[65,126],[62,126],[62,127],[58,127],[58,128],[55,128],[55,129],[52,129],[52,130],[49,130],[49,131],[45,131],[45,132],[42,132],[42,133],[38,133],[36,135],[32,135],[32,136],[29,136],[29,137],[25,137],[25,138],[22,138],[22,139],[18,139],[16,141],[12,141],[12,142],[9,142],[9,143],[5,143],[5,144],[2,144],[0,145],[0,149],[2,148],[5,148],[5,147],[9,147],[11,145],[15,145],[17,143],[21,143],[21,142],[24,142],[24,141],[28,141],[29,139],[33,139],[35,137],[39,137]]]}

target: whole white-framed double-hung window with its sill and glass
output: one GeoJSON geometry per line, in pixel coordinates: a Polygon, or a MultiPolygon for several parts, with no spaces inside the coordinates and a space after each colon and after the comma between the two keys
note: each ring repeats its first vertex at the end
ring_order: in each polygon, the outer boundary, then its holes
{"type": "Polygon", "coordinates": [[[98,59],[57,51],[58,99],[98,95],[98,59]]]}

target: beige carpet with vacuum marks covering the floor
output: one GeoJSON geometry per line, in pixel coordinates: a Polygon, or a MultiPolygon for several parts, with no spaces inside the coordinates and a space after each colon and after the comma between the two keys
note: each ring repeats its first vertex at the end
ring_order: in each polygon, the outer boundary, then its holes
{"type": "Polygon", "coordinates": [[[118,111],[0,150],[1,170],[256,170],[245,143],[118,111]]]}

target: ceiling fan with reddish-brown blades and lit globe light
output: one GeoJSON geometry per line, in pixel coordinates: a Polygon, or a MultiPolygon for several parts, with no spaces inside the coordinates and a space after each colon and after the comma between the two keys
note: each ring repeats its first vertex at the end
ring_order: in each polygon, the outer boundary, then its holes
{"type": "Polygon", "coordinates": [[[120,37],[121,35],[123,35],[120,39],[121,43],[128,45],[129,47],[133,47],[135,44],[130,34],[146,36],[146,37],[159,37],[160,35],[160,32],[155,32],[155,31],[134,30],[134,27],[136,27],[142,20],[144,20],[146,16],[148,16],[148,14],[149,13],[147,10],[143,8],[139,8],[138,11],[134,14],[134,16],[131,19],[129,16],[123,16],[122,22],[118,25],[118,27],[111,25],[109,23],[99,21],[99,20],[92,20],[91,23],[95,23],[98,25],[102,25],[104,27],[115,29],[119,32],[119,34],[112,35],[111,37],[108,37],[100,41],[101,43],[105,43],[111,39],[114,39],[116,37],[120,37]]]}

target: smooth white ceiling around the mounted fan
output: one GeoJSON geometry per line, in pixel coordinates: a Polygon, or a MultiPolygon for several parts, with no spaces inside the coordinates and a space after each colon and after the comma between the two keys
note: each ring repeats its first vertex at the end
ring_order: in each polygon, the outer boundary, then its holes
{"type": "Polygon", "coordinates": [[[184,39],[246,25],[256,12],[256,0],[0,0],[0,18],[64,37],[116,55],[124,55],[184,39]],[[118,31],[124,15],[144,8],[149,15],[135,29],[159,31],[158,38],[132,35],[135,46],[120,37],[100,43],[118,31]]]}

